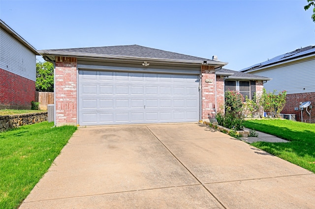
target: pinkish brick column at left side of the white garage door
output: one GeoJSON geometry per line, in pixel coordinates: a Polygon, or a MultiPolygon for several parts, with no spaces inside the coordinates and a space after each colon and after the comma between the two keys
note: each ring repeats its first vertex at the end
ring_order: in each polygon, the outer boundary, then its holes
{"type": "Polygon", "coordinates": [[[77,59],[56,56],[56,126],[77,125],[77,59]]]}

